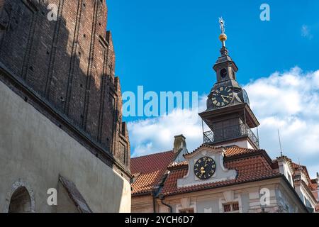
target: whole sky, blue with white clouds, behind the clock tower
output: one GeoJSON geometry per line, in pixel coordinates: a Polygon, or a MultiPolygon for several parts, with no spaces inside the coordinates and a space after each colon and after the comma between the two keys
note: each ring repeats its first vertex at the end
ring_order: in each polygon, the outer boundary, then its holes
{"type": "MultiPolygon", "coordinates": [[[[319,1],[146,1],[108,0],[116,74],[122,91],[189,91],[208,94],[216,82],[212,66],[220,55],[218,18],[223,16],[237,79],[248,91],[262,126],[261,146],[319,171],[319,1]],[[261,4],[271,20],[261,21],[261,4]]],[[[203,96],[205,97],[205,96],[203,96]]],[[[200,106],[204,106],[205,100],[200,106]]],[[[164,118],[129,121],[132,155],[172,148],[186,135],[189,150],[202,142],[196,112],[177,110],[164,118]],[[190,122],[190,123],[186,123],[190,122]],[[147,132],[147,133],[146,133],[147,132]]]]}

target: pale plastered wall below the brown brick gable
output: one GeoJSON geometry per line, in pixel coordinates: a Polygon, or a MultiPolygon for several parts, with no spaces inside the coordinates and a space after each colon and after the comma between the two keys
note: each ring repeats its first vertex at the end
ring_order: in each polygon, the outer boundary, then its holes
{"type": "Polygon", "coordinates": [[[32,212],[65,210],[47,204],[47,190],[59,187],[60,175],[76,185],[92,211],[130,212],[130,182],[2,82],[0,157],[0,212],[9,211],[18,187],[28,190],[32,212]]]}

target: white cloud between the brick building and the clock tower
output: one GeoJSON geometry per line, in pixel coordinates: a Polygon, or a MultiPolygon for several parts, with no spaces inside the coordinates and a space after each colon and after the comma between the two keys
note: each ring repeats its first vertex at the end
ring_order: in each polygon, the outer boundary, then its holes
{"type": "Polygon", "coordinates": [[[183,134],[188,148],[200,145],[201,119],[198,111],[205,110],[206,96],[201,96],[198,109],[175,109],[167,116],[128,123],[133,157],[172,150],[174,136],[183,134]]]}

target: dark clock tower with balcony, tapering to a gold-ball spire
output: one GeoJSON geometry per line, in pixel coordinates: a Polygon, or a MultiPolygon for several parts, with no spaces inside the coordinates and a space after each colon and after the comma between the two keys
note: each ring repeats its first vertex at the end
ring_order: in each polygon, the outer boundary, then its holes
{"type": "Polygon", "coordinates": [[[241,148],[259,149],[258,136],[252,128],[259,122],[250,109],[250,101],[245,89],[236,80],[237,65],[228,55],[225,45],[225,22],[220,18],[222,42],[220,57],[213,70],[217,82],[213,85],[207,99],[207,109],[199,114],[211,131],[203,133],[204,143],[214,146],[237,145],[241,148]]]}

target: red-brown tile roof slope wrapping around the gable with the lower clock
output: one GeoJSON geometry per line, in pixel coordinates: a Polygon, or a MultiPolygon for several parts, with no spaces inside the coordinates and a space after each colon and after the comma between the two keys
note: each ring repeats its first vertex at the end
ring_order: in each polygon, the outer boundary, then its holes
{"type": "Polygon", "coordinates": [[[210,184],[201,184],[182,188],[177,187],[177,179],[183,178],[187,174],[188,168],[184,168],[182,170],[173,170],[167,177],[161,194],[167,196],[186,192],[196,192],[203,189],[213,189],[231,184],[240,184],[244,182],[252,182],[281,176],[279,172],[272,170],[272,167],[269,165],[267,160],[262,157],[262,155],[240,160],[231,160],[225,163],[225,167],[231,170],[237,170],[237,178],[224,182],[214,182],[210,184]]]}

